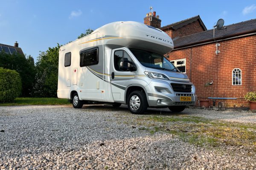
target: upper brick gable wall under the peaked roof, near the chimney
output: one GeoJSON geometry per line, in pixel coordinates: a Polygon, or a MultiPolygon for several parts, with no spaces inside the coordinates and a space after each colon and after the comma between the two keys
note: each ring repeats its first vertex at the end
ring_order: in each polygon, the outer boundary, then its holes
{"type": "Polygon", "coordinates": [[[195,21],[191,24],[178,28],[177,30],[172,31],[172,39],[184,37],[186,35],[191,35],[199,32],[203,32],[204,29],[202,28],[199,21],[195,21]]]}

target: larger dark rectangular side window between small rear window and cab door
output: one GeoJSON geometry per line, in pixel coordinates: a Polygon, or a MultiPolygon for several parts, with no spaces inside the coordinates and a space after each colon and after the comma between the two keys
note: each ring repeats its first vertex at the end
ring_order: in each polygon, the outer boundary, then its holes
{"type": "Polygon", "coordinates": [[[80,53],[80,67],[97,65],[99,63],[99,48],[91,48],[89,50],[81,51],[80,53]]]}

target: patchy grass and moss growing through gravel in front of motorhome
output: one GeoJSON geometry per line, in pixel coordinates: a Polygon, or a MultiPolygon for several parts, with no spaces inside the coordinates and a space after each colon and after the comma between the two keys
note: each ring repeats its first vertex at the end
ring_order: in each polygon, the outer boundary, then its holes
{"type": "Polygon", "coordinates": [[[148,116],[137,118],[138,124],[142,120],[144,127],[141,130],[148,130],[150,134],[162,131],[198,146],[244,146],[256,152],[256,125],[253,123],[224,122],[196,116],[148,116]]]}

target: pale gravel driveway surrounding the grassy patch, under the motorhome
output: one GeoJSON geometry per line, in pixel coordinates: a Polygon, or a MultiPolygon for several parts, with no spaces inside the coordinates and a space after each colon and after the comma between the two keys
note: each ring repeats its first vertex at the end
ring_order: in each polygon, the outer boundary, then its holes
{"type": "MultiPolygon", "coordinates": [[[[198,146],[171,133],[142,130],[143,125],[137,120],[147,119],[152,114],[172,116],[166,109],[148,109],[148,114],[133,115],[127,106],[0,107],[0,167],[256,169],[255,150],[244,150],[243,146],[198,146]]],[[[186,109],[176,116],[249,122],[253,126],[256,123],[256,113],[246,111],[186,109]]]]}

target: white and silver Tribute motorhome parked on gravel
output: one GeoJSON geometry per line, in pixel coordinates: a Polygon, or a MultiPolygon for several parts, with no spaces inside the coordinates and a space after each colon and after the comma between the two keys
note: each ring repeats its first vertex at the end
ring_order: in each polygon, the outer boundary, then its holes
{"type": "Polygon", "coordinates": [[[61,46],[58,98],[74,108],[85,103],[127,104],[131,113],[148,107],[180,112],[195,105],[195,86],[163,55],[172,39],[138,22],[114,22],[61,46]]]}

